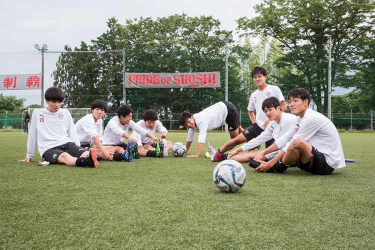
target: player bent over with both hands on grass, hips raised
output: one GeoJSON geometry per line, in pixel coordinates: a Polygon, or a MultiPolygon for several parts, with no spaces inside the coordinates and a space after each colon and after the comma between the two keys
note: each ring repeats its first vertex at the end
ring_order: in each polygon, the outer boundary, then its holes
{"type": "Polygon", "coordinates": [[[189,150],[191,142],[194,140],[196,128],[199,129],[198,146],[196,147],[195,154],[190,154],[186,157],[199,156],[205,142],[207,130],[215,129],[226,123],[228,124],[230,138],[236,137],[243,131],[243,128],[239,124],[237,109],[229,101],[219,101],[195,114],[183,111],[178,116],[178,122],[180,126],[188,128],[186,153],[189,150]]]}

